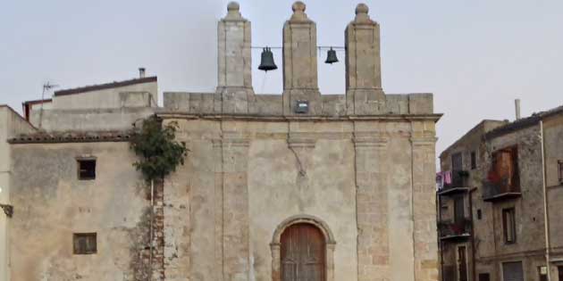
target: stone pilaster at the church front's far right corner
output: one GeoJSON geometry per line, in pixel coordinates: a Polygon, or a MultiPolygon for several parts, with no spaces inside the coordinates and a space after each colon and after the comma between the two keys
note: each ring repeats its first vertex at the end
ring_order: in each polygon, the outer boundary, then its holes
{"type": "Polygon", "coordinates": [[[438,280],[433,122],[416,122],[411,136],[415,280],[438,280]]]}

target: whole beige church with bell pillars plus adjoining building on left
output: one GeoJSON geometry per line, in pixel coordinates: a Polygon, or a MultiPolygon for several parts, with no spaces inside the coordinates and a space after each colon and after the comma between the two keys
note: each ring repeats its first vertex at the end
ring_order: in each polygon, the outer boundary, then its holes
{"type": "Polygon", "coordinates": [[[342,95],[319,92],[305,4],[283,25],[281,95],[254,93],[251,25],[227,10],[214,93],[165,92],[157,107],[156,79],[139,78],[30,104],[33,132],[7,145],[9,280],[437,280],[441,114],[432,94],[383,92],[367,6],[346,28],[342,95]],[[152,114],[189,148],[154,194],[128,145],[152,114]]]}

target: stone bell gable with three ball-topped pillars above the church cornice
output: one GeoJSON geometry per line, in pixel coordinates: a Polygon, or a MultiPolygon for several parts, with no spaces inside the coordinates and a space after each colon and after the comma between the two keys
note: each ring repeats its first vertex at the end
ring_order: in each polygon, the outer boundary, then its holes
{"type": "Polygon", "coordinates": [[[252,88],[251,25],[231,3],[218,23],[218,85],[215,93],[165,92],[164,109],[189,114],[260,116],[369,116],[433,114],[432,94],[385,95],[382,89],[380,26],[358,4],[344,33],[346,93],[321,95],[316,23],[298,1],[282,27],[283,93],[256,95],[252,88]],[[308,112],[297,113],[298,101],[308,112]]]}

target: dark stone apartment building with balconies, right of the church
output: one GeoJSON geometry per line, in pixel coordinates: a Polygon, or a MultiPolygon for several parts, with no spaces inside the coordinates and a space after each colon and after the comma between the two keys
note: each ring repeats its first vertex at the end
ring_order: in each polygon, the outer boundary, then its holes
{"type": "Polygon", "coordinates": [[[563,280],[562,129],[561,107],[483,120],[441,153],[442,280],[563,280]]]}

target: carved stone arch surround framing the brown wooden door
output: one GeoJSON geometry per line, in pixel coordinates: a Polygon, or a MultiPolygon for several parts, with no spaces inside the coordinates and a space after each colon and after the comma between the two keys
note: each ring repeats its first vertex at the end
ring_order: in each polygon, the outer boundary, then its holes
{"type": "Polygon", "coordinates": [[[326,281],[334,281],[334,248],[336,242],[331,229],[322,220],[309,215],[298,215],[285,219],[273,232],[272,243],[272,280],[281,281],[281,235],[291,226],[308,224],[316,227],[324,236],[324,277],[326,281]]]}

